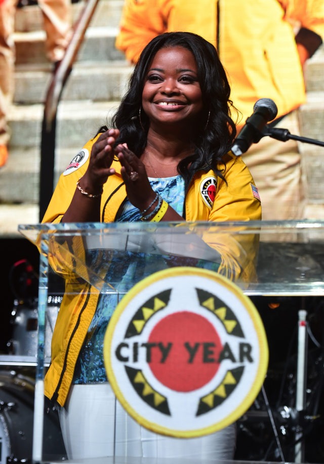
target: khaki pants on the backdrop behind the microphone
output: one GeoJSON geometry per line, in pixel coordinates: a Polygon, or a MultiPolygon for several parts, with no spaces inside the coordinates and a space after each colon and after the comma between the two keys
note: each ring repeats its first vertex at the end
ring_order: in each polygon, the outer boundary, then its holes
{"type": "MultiPolygon", "coordinates": [[[[299,135],[298,110],[288,114],[276,127],[299,135]]],[[[243,159],[259,189],[262,219],[302,219],[304,193],[298,142],[264,137],[250,147],[243,159]]]]}

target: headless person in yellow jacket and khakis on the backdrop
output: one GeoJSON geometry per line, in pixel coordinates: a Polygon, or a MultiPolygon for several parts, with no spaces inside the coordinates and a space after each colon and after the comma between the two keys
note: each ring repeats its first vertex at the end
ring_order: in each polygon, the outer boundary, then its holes
{"type": "MultiPolygon", "coordinates": [[[[299,135],[303,65],[322,43],[323,0],[125,0],[116,48],[136,63],[155,35],[177,30],[195,32],[216,47],[241,113],[238,130],[257,100],[271,98],[278,107],[276,127],[299,135]]],[[[263,219],[305,217],[296,141],[265,137],[244,160],[260,191],[263,219]]]]}

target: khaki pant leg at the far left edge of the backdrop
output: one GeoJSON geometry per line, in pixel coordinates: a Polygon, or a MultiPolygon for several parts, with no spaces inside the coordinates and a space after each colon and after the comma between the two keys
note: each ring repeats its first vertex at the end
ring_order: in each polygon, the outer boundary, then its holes
{"type": "Polygon", "coordinates": [[[8,144],[10,129],[7,115],[12,104],[15,81],[15,44],[13,33],[17,0],[0,3],[0,144],[8,144]]]}

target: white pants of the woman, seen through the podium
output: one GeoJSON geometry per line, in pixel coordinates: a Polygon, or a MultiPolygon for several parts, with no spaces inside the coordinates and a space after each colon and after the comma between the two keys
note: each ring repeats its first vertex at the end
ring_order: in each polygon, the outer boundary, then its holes
{"type": "Polygon", "coordinates": [[[127,414],[108,383],[73,385],[59,417],[69,459],[113,455],[232,459],[235,451],[235,424],[199,438],[157,435],[127,414]]]}

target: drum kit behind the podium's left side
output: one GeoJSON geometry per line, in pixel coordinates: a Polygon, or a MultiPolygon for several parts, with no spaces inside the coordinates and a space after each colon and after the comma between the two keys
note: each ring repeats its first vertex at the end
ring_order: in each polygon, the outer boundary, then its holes
{"type": "MultiPolygon", "coordinates": [[[[0,356],[0,464],[31,462],[38,329],[38,283],[26,260],[14,264],[10,286],[15,296],[7,355],[0,356]]],[[[51,339],[61,296],[48,297],[45,358],[51,358],[51,339]]],[[[45,403],[43,449],[45,460],[66,459],[58,413],[45,403]]]]}

